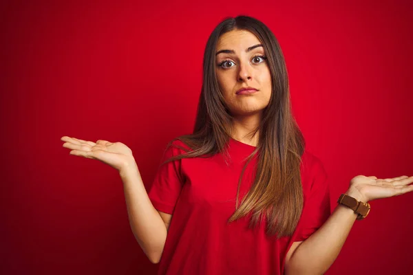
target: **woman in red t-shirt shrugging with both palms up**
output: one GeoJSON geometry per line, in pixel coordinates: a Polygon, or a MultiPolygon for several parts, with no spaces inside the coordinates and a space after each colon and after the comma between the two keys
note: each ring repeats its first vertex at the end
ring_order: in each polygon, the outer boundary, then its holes
{"type": "Polygon", "coordinates": [[[354,177],[330,214],[326,170],[289,100],[277,39],[239,16],[209,37],[193,134],[169,143],[149,193],[125,144],[61,140],[119,171],[131,229],[159,274],[322,274],[368,201],[412,191],[413,177],[354,177]]]}

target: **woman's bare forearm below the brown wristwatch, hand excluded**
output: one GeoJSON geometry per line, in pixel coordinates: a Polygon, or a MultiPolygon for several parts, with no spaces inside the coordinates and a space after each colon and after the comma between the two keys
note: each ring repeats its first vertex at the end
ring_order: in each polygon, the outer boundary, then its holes
{"type": "MultiPolygon", "coordinates": [[[[346,194],[358,199],[357,194],[346,194]]],[[[353,210],[337,204],[327,221],[295,250],[285,274],[324,274],[337,259],[356,218],[353,210]]]]}

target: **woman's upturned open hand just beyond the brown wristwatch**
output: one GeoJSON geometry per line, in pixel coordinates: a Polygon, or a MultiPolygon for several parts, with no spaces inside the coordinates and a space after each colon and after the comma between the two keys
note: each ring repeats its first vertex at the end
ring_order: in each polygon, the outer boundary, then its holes
{"type": "Polygon", "coordinates": [[[394,197],[413,191],[413,176],[393,177],[392,179],[377,179],[377,177],[366,177],[358,175],[350,181],[347,195],[368,202],[373,199],[394,197]]]}

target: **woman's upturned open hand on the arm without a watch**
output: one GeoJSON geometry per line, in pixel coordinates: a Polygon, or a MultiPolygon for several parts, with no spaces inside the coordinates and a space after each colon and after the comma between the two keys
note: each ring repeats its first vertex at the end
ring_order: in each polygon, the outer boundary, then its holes
{"type": "Polygon", "coordinates": [[[136,164],[131,149],[122,142],[112,143],[107,140],[97,140],[95,143],[67,136],[61,137],[61,140],[65,142],[63,147],[72,149],[70,155],[98,159],[119,172],[136,164]]]}

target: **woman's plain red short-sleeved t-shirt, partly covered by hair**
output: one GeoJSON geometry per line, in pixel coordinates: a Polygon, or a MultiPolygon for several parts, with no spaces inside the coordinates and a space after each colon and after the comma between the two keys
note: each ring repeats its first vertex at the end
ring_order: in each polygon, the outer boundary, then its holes
{"type": "MultiPolygon", "coordinates": [[[[180,140],[173,144],[188,148],[180,140]]],[[[153,206],[172,214],[160,259],[158,274],[283,274],[286,252],[294,241],[304,241],[330,215],[327,174],[315,155],[304,152],[301,181],[304,209],[293,236],[275,239],[267,236],[266,221],[248,229],[249,214],[227,224],[235,212],[237,184],[244,158],[255,147],[230,139],[232,162],[226,166],[222,154],[187,158],[159,167],[149,190],[153,206]]],[[[184,153],[170,146],[162,162],[184,153]]],[[[253,166],[248,164],[242,177],[240,200],[253,183],[253,166]]]]}

